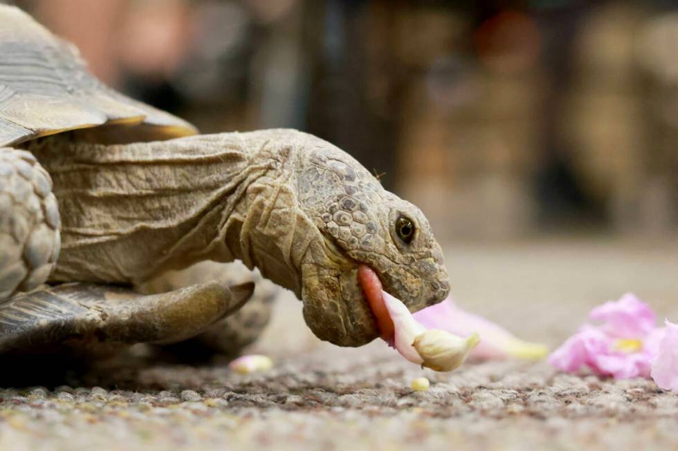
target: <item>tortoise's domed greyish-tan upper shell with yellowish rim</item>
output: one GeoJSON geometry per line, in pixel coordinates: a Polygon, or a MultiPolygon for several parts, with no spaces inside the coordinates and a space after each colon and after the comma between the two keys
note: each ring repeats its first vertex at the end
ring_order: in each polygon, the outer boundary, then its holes
{"type": "Polygon", "coordinates": [[[86,130],[93,142],[197,133],[183,119],[102,84],[75,46],[19,8],[0,5],[0,55],[0,146],[73,130],[86,130]]]}

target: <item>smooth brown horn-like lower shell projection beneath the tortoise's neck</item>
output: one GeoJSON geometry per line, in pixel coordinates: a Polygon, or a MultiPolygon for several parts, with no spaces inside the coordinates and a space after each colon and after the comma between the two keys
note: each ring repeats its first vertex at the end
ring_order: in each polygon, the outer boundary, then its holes
{"type": "Polygon", "coordinates": [[[143,296],[79,282],[39,287],[0,304],[0,354],[101,354],[185,340],[237,311],[253,289],[212,282],[143,296]]]}

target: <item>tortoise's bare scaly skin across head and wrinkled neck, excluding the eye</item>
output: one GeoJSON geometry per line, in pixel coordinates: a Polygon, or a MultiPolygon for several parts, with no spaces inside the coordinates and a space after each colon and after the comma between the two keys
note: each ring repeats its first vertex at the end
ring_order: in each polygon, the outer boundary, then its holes
{"type": "Polygon", "coordinates": [[[52,280],[140,284],[210,259],[242,260],[294,291],[319,338],[378,336],[357,282],[369,265],[416,311],[448,276],[423,213],[336,146],[293,130],[104,146],[59,135],[29,143],[62,215],[52,280]],[[394,223],[416,228],[407,244],[394,223]]]}

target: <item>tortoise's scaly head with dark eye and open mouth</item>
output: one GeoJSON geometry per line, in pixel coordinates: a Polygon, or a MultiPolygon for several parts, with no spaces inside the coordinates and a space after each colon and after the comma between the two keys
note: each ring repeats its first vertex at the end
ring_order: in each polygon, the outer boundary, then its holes
{"type": "Polygon", "coordinates": [[[304,318],[318,338],[364,345],[380,332],[358,266],[367,265],[385,291],[417,311],[448,295],[443,253],[421,210],[383,189],[347,153],[306,136],[297,187],[317,239],[302,260],[304,318]]]}

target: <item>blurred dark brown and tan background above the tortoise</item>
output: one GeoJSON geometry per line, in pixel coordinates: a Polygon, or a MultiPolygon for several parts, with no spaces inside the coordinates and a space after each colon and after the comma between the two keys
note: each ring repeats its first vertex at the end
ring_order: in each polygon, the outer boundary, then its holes
{"type": "Polygon", "coordinates": [[[17,1],[203,132],[295,127],[441,240],[678,235],[675,1],[17,1]]]}

